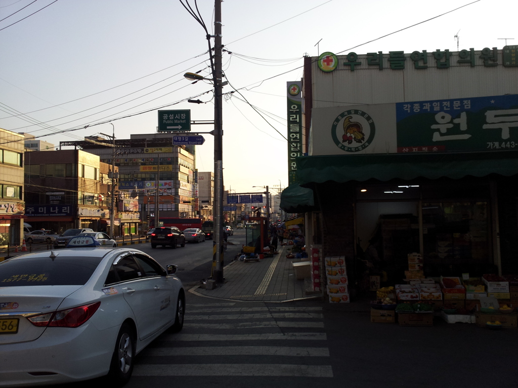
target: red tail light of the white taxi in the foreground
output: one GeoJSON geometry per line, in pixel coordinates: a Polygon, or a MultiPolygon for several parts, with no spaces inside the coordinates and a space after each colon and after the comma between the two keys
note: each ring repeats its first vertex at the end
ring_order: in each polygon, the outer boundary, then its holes
{"type": "Polygon", "coordinates": [[[35,326],[79,327],[94,315],[99,306],[100,302],[96,302],[67,310],[35,315],[27,319],[35,326]]]}

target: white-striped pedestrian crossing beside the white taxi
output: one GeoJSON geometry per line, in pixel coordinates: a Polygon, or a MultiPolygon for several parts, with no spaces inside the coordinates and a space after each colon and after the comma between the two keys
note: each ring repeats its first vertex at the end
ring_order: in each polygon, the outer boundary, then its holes
{"type": "Polygon", "coordinates": [[[183,330],[143,350],[133,376],[333,378],[322,307],[188,305],[183,330]]]}

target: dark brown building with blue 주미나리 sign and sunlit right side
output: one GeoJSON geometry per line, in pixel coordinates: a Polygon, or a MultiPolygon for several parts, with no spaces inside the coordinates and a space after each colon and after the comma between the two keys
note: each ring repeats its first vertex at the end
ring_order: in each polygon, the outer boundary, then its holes
{"type": "MultiPolygon", "coordinates": [[[[35,229],[55,232],[69,228],[108,231],[110,170],[98,156],[81,150],[26,152],[27,222],[35,229]]],[[[117,228],[114,234],[121,232],[117,228]]]]}

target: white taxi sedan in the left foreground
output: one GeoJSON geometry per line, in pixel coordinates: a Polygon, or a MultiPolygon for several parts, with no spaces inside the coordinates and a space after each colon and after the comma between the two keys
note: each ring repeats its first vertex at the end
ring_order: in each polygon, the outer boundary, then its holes
{"type": "Polygon", "coordinates": [[[1,262],[0,385],[100,376],[124,384],[138,352],[182,329],[176,269],[131,248],[65,248],[1,262]]]}

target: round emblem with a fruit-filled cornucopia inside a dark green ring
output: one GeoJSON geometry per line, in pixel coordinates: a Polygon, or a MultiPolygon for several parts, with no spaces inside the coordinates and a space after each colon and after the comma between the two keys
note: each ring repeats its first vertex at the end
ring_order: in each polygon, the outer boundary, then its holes
{"type": "Polygon", "coordinates": [[[376,126],[368,113],[351,109],[335,118],[331,127],[331,137],[340,150],[358,152],[365,150],[376,132],[376,126]]]}

